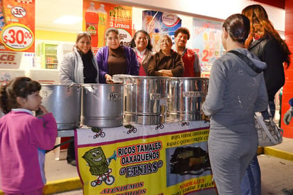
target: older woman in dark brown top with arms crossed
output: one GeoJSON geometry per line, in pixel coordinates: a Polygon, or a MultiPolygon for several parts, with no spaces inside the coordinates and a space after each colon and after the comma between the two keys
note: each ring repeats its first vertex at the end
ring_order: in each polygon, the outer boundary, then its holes
{"type": "Polygon", "coordinates": [[[172,40],[169,35],[161,36],[160,51],[151,57],[148,68],[149,76],[169,76],[181,77],[184,72],[184,66],[181,56],[174,52],[172,40]]]}

